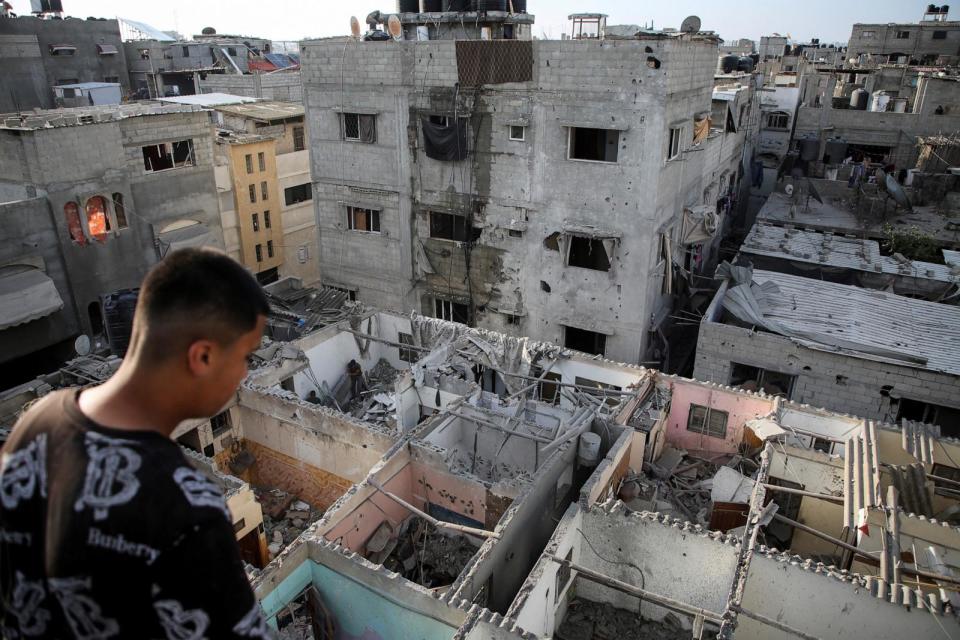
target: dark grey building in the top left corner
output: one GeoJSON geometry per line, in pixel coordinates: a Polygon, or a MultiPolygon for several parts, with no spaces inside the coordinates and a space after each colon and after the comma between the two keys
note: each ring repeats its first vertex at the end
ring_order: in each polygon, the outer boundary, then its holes
{"type": "Polygon", "coordinates": [[[104,18],[0,18],[0,68],[0,113],[51,109],[55,86],[130,89],[120,27],[104,18]]]}

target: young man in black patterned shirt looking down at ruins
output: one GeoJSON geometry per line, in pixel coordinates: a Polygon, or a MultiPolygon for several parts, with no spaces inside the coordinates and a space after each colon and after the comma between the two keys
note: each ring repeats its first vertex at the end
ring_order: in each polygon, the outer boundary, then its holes
{"type": "Polygon", "coordinates": [[[268,312],[225,254],[176,251],[116,374],[21,417],[0,456],[0,635],[270,637],[219,487],[170,439],[236,392],[268,312]]]}

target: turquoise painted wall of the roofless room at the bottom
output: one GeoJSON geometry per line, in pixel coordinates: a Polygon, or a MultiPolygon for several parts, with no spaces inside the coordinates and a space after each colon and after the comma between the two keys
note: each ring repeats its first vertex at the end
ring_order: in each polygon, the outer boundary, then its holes
{"type": "Polygon", "coordinates": [[[261,601],[270,625],[277,613],[313,583],[336,620],[335,640],[450,640],[455,627],[401,606],[369,587],[312,560],[302,563],[261,601]]]}

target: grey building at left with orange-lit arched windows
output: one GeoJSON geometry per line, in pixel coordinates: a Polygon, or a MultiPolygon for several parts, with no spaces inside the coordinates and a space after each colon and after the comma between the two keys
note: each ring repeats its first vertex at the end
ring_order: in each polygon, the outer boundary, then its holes
{"type": "Polygon", "coordinates": [[[223,248],[212,133],[209,112],[148,102],[0,116],[0,362],[96,345],[104,295],[172,249],[223,248]]]}

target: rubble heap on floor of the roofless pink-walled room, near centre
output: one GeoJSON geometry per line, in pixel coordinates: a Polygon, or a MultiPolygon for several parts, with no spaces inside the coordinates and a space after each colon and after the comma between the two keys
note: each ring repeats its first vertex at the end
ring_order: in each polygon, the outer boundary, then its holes
{"type": "Polygon", "coordinates": [[[367,541],[367,559],[383,564],[424,587],[447,587],[479,548],[462,535],[440,531],[419,516],[410,516],[394,531],[384,522],[367,541]]]}

